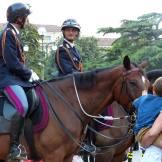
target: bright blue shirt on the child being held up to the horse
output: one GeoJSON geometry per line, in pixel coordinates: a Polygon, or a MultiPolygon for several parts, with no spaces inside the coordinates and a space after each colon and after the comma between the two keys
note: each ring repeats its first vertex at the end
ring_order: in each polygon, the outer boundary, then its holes
{"type": "Polygon", "coordinates": [[[147,94],[137,98],[133,105],[137,114],[134,132],[138,133],[141,128],[153,125],[160,111],[162,111],[162,97],[147,94]]]}

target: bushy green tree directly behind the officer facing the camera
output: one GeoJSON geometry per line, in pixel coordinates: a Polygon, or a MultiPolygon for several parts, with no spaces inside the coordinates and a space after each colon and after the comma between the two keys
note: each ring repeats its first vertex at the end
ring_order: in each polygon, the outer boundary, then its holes
{"type": "MultiPolygon", "coordinates": [[[[63,38],[60,38],[55,44],[59,46],[62,44],[63,38]]],[[[100,61],[102,61],[102,52],[98,47],[98,40],[94,37],[80,37],[76,41],[77,49],[79,50],[82,59],[83,59],[83,67],[84,71],[91,70],[100,65],[103,65],[100,61]]],[[[52,51],[51,55],[48,56],[46,61],[46,78],[51,78],[52,73],[56,74],[56,66],[54,62],[56,51],[52,51]]],[[[100,66],[101,67],[101,66],[100,66]]]]}

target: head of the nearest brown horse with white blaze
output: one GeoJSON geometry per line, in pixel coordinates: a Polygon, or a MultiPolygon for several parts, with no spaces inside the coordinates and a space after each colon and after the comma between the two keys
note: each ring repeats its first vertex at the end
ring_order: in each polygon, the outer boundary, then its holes
{"type": "Polygon", "coordinates": [[[148,90],[149,81],[143,71],[146,62],[136,65],[124,57],[122,75],[114,86],[114,98],[129,113],[133,112],[132,101],[148,90]]]}

